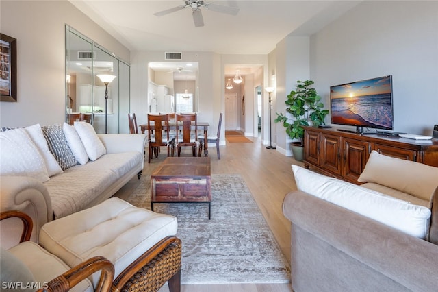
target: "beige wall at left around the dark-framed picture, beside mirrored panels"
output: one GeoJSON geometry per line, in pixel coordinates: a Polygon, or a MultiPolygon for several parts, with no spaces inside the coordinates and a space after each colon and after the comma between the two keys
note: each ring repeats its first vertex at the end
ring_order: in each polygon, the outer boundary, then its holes
{"type": "Polygon", "coordinates": [[[65,25],[123,60],[129,50],[70,2],[0,2],[1,33],[17,40],[18,102],[0,103],[0,125],[49,125],[65,120],[65,25]]]}

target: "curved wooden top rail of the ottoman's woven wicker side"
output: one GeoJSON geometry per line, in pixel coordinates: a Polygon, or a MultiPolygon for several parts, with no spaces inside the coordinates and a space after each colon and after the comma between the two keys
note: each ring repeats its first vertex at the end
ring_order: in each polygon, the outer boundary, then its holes
{"type": "Polygon", "coordinates": [[[147,252],[134,260],[133,263],[131,263],[131,265],[129,265],[125,270],[123,270],[113,281],[112,291],[122,291],[124,285],[131,280],[131,278],[138,273],[138,271],[144,268],[144,266],[146,266],[152,260],[156,259],[155,257],[157,255],[162,253],[171,245],[179,246],[179,267],[177,267],[177,269],[181,269],[181,240],[175,236],[168,236],[156,243],[147,252]]]}

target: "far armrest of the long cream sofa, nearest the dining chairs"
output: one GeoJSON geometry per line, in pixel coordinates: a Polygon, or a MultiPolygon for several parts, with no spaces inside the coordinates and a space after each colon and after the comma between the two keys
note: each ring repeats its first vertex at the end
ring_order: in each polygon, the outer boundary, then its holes
{"type": "Polygon", "coordinates": [[[144,154],[146,134],[98,134],[107,154],[139,151],[144,154]]]}

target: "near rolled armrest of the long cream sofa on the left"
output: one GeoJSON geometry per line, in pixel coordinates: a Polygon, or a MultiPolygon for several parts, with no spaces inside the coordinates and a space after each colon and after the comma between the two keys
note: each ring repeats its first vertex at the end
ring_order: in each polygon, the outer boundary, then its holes
{"type": "MultiPolygon", "coordinates": [[[[26,176],[0,176],[0,211],[25,212],[34,222],[31,241],[38,242],[41,227],[53,219],[51,198],[47,188],[34,178],[26,176]]],[[[1,223],[1,246],[16,245],[23,230],[18,219],[1,223]]]]}

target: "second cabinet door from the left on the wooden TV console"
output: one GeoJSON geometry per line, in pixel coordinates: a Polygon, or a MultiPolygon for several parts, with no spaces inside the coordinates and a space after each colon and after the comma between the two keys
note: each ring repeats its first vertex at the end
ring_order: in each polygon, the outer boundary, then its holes
{"type": "Polygon", "coordinates": [[[332,173],[341,175],[341,137],[321,135],[321,167],[332,173]]]}

